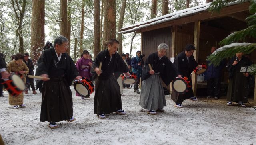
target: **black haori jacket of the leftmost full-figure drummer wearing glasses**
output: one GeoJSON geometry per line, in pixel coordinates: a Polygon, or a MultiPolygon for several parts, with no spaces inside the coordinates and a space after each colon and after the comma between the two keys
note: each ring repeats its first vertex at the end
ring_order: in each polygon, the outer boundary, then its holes
{"type": "MultiPolygon", "coordinates": [[[[62,57],[65,57],[66,61],[64,77],[68,82],[68,86],[71,86],[73,79],[76,78],[76,76],[78,76],[76,65],[74,64],[74,61],[71,59],[68,53],[62,53],[62,57]]],[[[54,66],[54,61],[58,61],[54,47],[46,49],[38,59],[38,68],[36,69],[36,76],[40,76],[42,74],[49,75],[51,71],[50,69],[54,66]]],[[[49,77],[51,78],[51,76],[49,77]]]]}

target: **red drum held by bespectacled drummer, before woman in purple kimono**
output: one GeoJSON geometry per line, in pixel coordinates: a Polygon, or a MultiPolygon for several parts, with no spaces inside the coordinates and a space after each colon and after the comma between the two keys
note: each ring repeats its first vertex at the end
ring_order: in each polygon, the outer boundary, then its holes
{"type": "Polygon", "coordinates": [[[89,98],[90,94],[95,90],[92,81],[84,77],[82,77],[81,80],[74,82],[73,86],[78,94],[86,98],[89,98]]]}

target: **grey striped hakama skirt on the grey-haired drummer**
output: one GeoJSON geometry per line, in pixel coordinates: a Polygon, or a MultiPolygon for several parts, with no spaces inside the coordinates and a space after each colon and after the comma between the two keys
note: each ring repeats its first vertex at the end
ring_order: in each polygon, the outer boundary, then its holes
{"type": "Polygon", "coordinates": [[[140,106],[148,110],[157,110],[166,106],[164,89],[159,74],[151,75],[142,81],[140,106]]]}

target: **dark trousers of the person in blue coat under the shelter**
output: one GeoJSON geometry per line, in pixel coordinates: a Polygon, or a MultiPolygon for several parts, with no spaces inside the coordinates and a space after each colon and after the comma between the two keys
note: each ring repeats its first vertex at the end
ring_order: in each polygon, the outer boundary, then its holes
{"type": "Polygon", "coordinates": [[[220,97],[220,78],[209,78],[207,80],[208,96],[220,97]]]}

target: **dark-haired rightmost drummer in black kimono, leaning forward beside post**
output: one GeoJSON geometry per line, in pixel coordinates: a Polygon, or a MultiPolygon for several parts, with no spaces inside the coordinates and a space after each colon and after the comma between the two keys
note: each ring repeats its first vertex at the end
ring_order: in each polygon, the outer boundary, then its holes
{"type": "Polygon", "coordinates": [[[176,91],[172,91],[171,99],[175,102],[175,107],[182,108],[182,102],[185,99],[190,99],[192,101],[197,101],[197,98],[194,96],[194,92],[192,90],[192,80],[190,74],[192,71],[198,67],[202,68],[201,65],[198,65],[196,62],[193,53],[196,48],[192,44],[188,44],[185,47],[185,51],[179,53],[176,58],[174,59],[174,66],[178,70],[179,74],[182,76],[186,76],[188,78],[187,81],[190,81],[189,85],[191,86],[188,89],[188,92],[185,94],[179,94],[176,91]]]}

